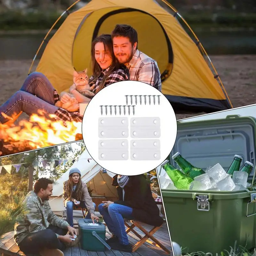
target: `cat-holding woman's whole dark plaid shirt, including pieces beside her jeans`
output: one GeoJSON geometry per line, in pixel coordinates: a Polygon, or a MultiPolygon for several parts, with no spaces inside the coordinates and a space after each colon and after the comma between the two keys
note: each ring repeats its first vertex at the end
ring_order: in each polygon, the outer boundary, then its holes
{"type": "MultiPolygon", "coordinates": [[[[93,83],[93,84],[95,84],[95,87],[93,89],[94,93],[97,90],[97,88],[100,86],[103,76],[108,72],[108,70],[109,70],[109,68],[102,70],[102,74],[96,79],[96,81],[94,81],[94,83],[93,83]]],[[[92,76],[89,78],[90,86],[93,85],[92,84],[93,79],[94,78],[92,76]]],[[[114,84],[116,82],[125,81],[125,80],[129,80],[125,70],[117,69],[116,71],[114,71],[112,74],[110,74],[107,77],[107,79],[105,80],[104,87],[108,86],[109,84],[114,84]]],[[[60,96],[56,90],[54,90],[53,94],[54,94],[54,102],[56,103],[58,100],[60,100],[60,96]]],[[[58,108],[55,111],[54,115],[55,115],[56,120],[62,120],[64,122],[64,124],[66,121],[68,121],[68,122],[82,122],[83,121],[83,116],[81,116],[79,112],[76,112],[76,111],[68,112],[64,108],[58,108]]]]}

